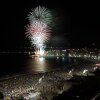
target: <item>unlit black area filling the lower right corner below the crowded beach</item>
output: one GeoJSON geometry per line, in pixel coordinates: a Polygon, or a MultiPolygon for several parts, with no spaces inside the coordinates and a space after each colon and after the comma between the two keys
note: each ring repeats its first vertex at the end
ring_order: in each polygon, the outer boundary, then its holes
{"type": "Polygon", "coordinates": [[[69,81],[73,86],[53,100],[100,100],[100,70],[95,76],[75,76],[69,81]]]}

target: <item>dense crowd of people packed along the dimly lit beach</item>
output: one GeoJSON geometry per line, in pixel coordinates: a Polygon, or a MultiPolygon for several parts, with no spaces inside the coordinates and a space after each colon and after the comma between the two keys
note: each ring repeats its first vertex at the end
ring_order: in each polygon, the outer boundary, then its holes
{"type": "Polygon", "coordinates": [[[0,80],[0,97],[16,98],[22,96],[28,97],[30,93],[46,94],[56,93],[63,90],[63,82],[71,79],[79,71],[84,74],[84,70],[93,71],[94,63],[79,61],[75,65],[70,65],[64,69],[54,71],[15,75],[0,80]],[[80,68],[79,68],[80,67],[80,68]]]}

